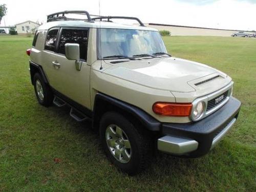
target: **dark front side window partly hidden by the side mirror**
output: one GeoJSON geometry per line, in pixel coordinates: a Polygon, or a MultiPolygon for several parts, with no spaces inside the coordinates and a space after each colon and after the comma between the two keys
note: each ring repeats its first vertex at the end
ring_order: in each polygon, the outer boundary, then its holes
{"type": "Polygon", "coordinates": [[[62,29],[58,53],[65,54],[65,44],[79,44],[80,59],[87,60],[88,29],[62,29]]]}

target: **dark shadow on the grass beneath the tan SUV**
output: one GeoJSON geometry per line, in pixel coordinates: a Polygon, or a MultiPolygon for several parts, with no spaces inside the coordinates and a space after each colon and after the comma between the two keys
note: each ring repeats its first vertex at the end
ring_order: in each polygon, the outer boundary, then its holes
{"type": "MultiPolygon", "coordinates": [[[[91,129],[92,123],[91,121],[85,121],[85,122],[76,122],[73,118],[69,116],[70,108],[68,106],[63,106],[62,108],[57,108],[56,106],[52,106],[48,108],[52,113],[56,114],[56,118],[59,118],[62,123],[63,129],[69,129],[70,132],[78,134],[81,138],[80,144],[84,145],[86,147],[87,140],[90,139],[91,146],[96,147],[94,150],[98,151],[99,154],[103,156],[103,158],[107,159],[106,156],[104,156],[103,148],[100,144],[99,135],[96,131],[93,131],[91,129]],[[93,140],[92,140],[93,139],[93,140]]],[[[95,153],[90,153],[91,155],[95,155],[95,153]]],[[[68,156],[73,156],[72,154],[67,154],[68,156]]],[[[92,157],[92,159],[99,158],[98,155],[95,157],[92,157]]],[[[161,152],[157,152],[152,158],[149,160],[150,165],[149,167],[139,174],[138,178],[141,178],[141,175],[159,175],[163,174],[167,175],[173,175],[176,173],[186,173],[187,169],[193,168],[195,164],[197,163],[203,163],[203,159],[190,159],[190,158],[179,158],[172,155],[167,155],[161,152]]],[[[86,163],[86,162],[84,162],[86,163]]],[[[109,164],[110,161],[108,161],[109,164]]],[[[125,176],[126,174],[121,173],[120,174],[125,176]]]]}

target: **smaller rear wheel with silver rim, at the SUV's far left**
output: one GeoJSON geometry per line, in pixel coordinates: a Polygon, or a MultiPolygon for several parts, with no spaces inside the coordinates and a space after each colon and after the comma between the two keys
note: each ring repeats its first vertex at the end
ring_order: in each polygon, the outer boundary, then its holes
{"type": "Polygon", "coordinates": [[[33,79],[37,101],[41,105],[50,106],[53,102],[53,93],[49,85],[44,82],[39,73],[36,73],[33,79]]]}

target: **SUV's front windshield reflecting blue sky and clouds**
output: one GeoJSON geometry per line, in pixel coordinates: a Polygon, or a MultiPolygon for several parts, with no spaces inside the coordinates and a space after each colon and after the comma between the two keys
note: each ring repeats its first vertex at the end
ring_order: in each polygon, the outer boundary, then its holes
{"type": "Polygon", "coordinates": [[[167,53],[158,31],[98,29],[98,59],[160,52],[167,53]]]}

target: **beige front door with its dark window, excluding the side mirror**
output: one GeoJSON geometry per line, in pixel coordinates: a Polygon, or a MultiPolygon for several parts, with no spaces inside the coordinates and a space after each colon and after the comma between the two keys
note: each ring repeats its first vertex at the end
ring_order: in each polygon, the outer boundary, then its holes
{"type": "Polygon", "coordinates": [[[90,66],[87,65],[88,28],[61,28],[54,54],[53,69],[56,88],[73,101],[91,108],[90,66]],[[74,60],[65,56],[65,44],[79,44],[81,70],[78,71],[74,60]]]}

